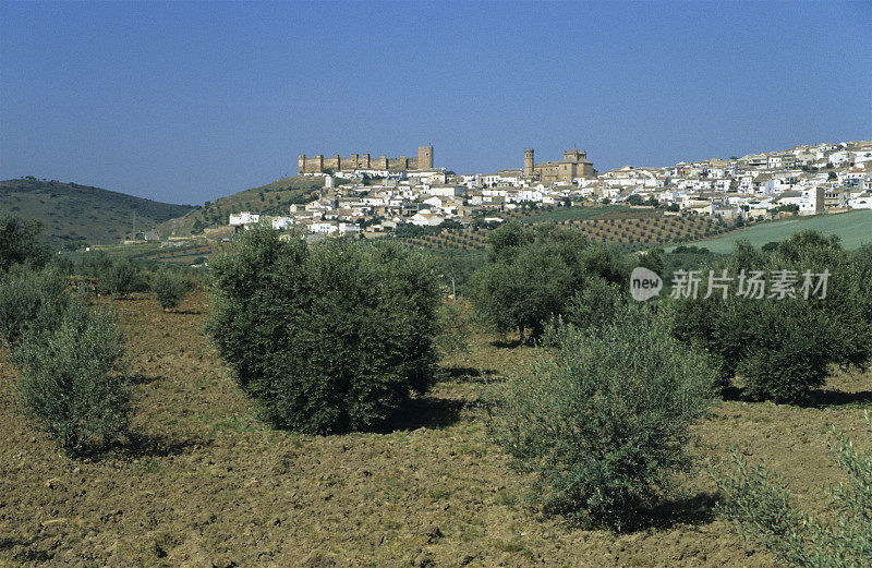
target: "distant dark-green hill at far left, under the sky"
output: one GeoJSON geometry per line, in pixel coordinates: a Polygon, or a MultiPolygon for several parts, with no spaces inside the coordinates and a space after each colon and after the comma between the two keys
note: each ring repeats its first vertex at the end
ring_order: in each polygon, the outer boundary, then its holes
{"type": "Polygon", "coordinates": [[[14,213],[41,221],[43,235],[58,247],[133,239],[134,214],[136,232],[142,232],[194,208],[76,183],[0,181],[0,214],[14,213]]]}

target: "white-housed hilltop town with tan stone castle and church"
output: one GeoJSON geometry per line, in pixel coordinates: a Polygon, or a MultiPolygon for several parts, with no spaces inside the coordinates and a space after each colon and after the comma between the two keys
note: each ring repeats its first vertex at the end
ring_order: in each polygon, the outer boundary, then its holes
{"type": "Polygon", "coordinates": [[[354,154],[300,156],[299,174],[324,178],[324,190],[282,216],[230,215],[231,227],[269,221],[274,228],[315,234],[378,235],[403,226],[470,227],[499,222],[517,208],[626,204],[724,219],[763,218],[872,208],[872,142],[795,146],[727,159],[661,168],[625,166],[603,173],[586,153],[494,173],[456,173],[433,167],[433,147],[417,158],[354,154]]]}

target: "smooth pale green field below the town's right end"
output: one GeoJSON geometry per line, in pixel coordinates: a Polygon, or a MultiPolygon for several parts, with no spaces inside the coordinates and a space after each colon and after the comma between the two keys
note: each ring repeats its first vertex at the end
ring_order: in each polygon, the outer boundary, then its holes
{"type": "MultiPolygon", "coordinates": [[[[826,234],[837,234],[841,245],[847,249],[858,249],[865,243],[872,243],[872,210],[849,212],[838,215],[818,215],[814,217],[798,217],[784,221],[772,221],[749,227],[724,237],[715,237],[693,244],[705,246],[713,253],[724,254],[732,250],[732,244],[739,239],[747,239],[755,246],[762,246],[772,241],[782,241],[791,234],[804,229],[814,229],[826,234]]],[[[670,246],[667,251],[674,249],[670,246]]]]}

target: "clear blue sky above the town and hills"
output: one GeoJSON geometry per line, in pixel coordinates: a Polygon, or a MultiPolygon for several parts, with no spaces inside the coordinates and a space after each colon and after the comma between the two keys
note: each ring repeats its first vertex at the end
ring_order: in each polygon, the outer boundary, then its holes
{"type": "Polygon", "coordinates": [[[0,178],[201,204],[296,155],[604,171],[872,137],[872,2],[0,0],[0,178]]]}

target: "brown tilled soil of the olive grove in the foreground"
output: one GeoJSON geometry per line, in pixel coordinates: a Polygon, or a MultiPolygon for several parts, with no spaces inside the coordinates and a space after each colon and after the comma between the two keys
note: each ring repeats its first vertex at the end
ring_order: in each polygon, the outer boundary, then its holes
{"type": "Polygon", "coordinates": [[[486,438],[476,383],[528,348],[483,339],[391,433],[303,436],[253,416],[203,333],[203,294],[173,313],[145,297],[116,309],[138,373],[136,449],[59,455],[16,409],[0,358],[0,567],[774,567],[714,517],[705,468],[730,448],[764,458],[820,509],[819,486],[841,479],[829,426],[869,443],[870,373],[836,373],[816,408],[719,402],[695,427],[686,496],[616,536],[543,517],[486,438]]]}

